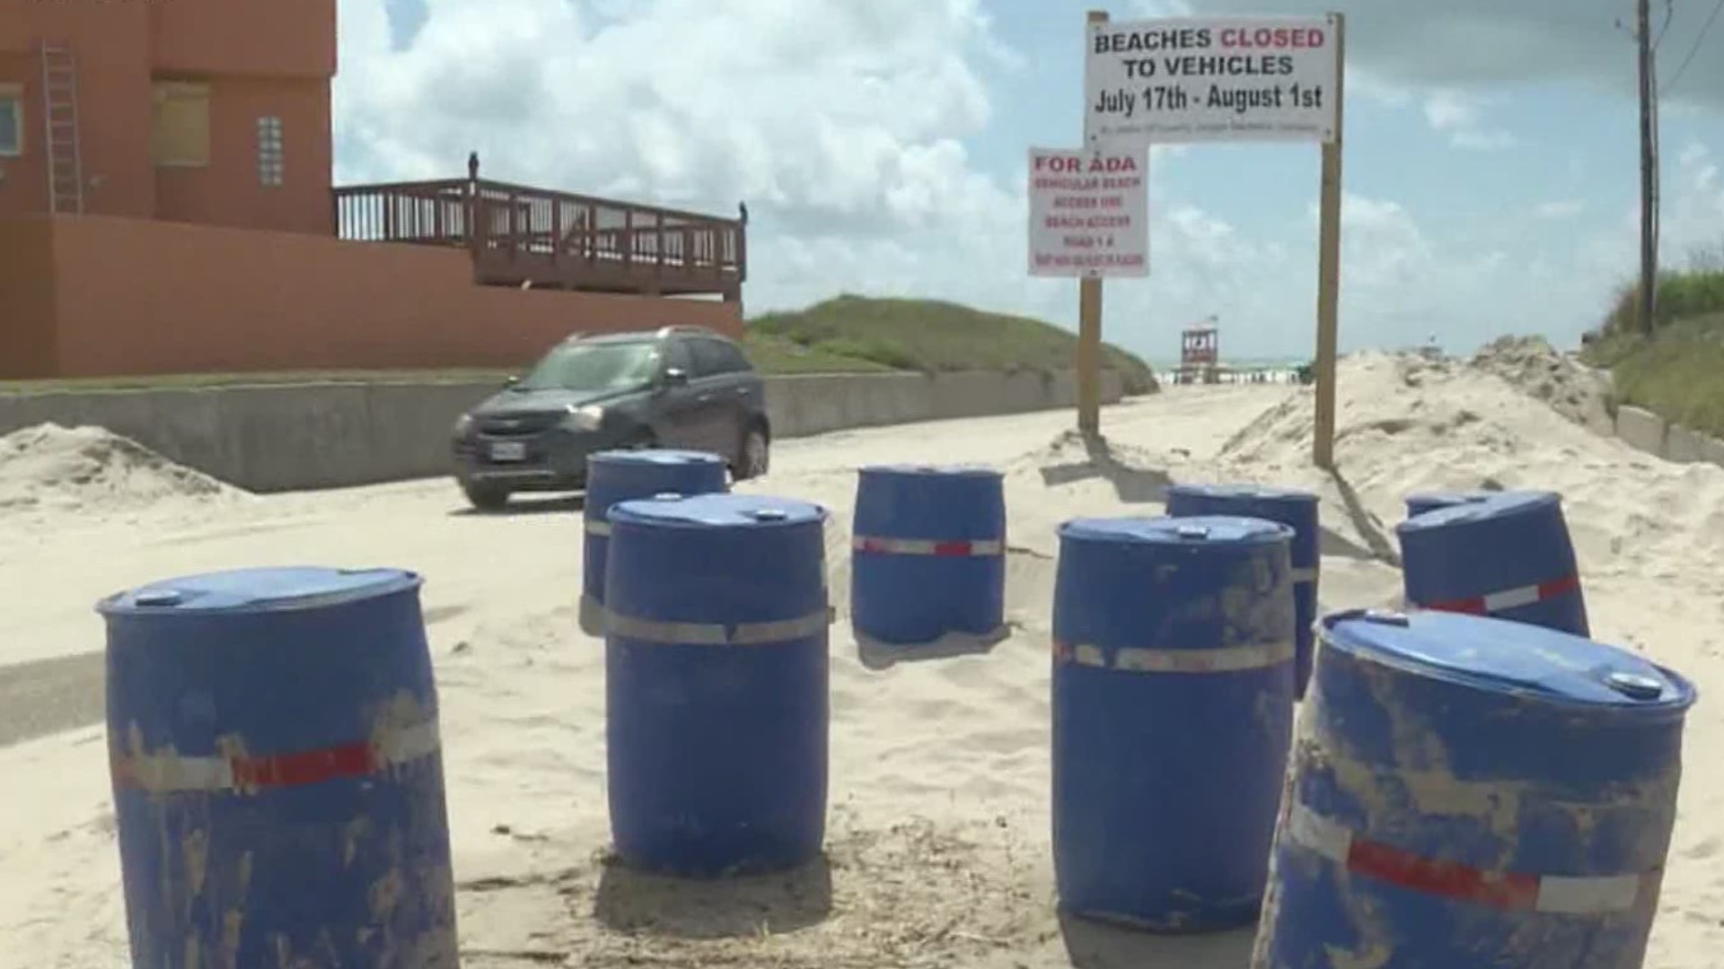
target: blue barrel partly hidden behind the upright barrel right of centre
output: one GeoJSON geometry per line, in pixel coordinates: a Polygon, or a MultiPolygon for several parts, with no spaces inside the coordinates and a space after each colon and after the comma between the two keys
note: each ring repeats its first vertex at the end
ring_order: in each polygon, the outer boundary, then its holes
{"type": "Polygon", "coordinates": [[[1317,572],[1322,564],[1322,535],[1317,528],[1317,495],[1295,488],[1262,484],[1174,484],[1167,490],[1167,514],[1243,516],[1281,522],[1293,529],[1293,695],[1305,697],[1310,653],[1317,633],[1317,572]]]}

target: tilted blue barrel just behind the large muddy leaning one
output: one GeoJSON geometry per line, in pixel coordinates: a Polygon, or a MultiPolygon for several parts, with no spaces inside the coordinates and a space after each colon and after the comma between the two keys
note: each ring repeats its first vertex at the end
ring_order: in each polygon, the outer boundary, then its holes
{"type": "Polygon", "coordinates": [[[1588,636],[1574,543],[1552,491],[1498,491],[1395,526],[1410,609],[1588,636]]]}

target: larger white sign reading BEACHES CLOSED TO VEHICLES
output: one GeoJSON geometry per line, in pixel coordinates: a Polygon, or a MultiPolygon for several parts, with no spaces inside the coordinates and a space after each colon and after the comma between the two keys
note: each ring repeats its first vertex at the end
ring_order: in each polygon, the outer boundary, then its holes
{"type": "Polygon", "coordinates": [[[1084,136],[1334,141],[1340,28],[1327,17],[1090,24],[1084,136]]]}

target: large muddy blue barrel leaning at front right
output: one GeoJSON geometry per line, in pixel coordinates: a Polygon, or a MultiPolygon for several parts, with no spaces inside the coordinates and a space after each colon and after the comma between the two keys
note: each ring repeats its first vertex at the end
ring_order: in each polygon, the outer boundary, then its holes
{"type": "Polygon", "coordinates": [[[1477,616],[1326,617],[1253,969],[1640,969],[1695,688],[1477,616]]]}

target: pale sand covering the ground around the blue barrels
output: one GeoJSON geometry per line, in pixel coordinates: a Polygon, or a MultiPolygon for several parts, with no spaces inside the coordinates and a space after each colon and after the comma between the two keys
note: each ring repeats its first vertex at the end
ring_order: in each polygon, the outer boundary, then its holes
{"type": "MultiPolygon", "coordinates": [[[[405,566],[429,579],[467,969],[1240,967],[1250,931],[1153,938],[1053,912],[1048,612],[1060,521],[1157,514],[1169,481],[1309,486],[1322,495],[1322,605],[1340,609],[1398,598],[1393,522],[1407,491],[1552,488],[1565,498],[1596,635],[1681,669],[1703,693],[1724,685],[1724,469],[1633,452],[1502,369],[1462,362],[1345,360],[1340,476],[1309,467],[1310,410],[1307,388],[1171,388],[1109,409],[1105,445],[1067,433],[1069,414],[781,443],[772,474],[743,490],[833,509],[840,614],[857,464],[990,462],[1007,474],[1010,509],[1010,638],[979,655],[869,669],[843,617],[833,628],[829,852],[795,876],[688,886],[610,864],[602,647],[576,629],[569,502],[465,514],[452,486],[433,481],[221,509],[167,497],[128,516],[0,510],[0,535],[33,536],[0,545],[0,588],[17,593],[0,612],[0,664],[81,662],[48,657],[100,648],[90,603],[162,576],[405,566]]],[[[1724,703],[1708,698],[1688,721],[1648,959],[1660,969],[1724,966],[1724,779],[1708,769],[1724,703]]],[[[0,967],[121,964],[100,724],[3,748],[0,774],[33,791],[0,802],[0,938],[12,943],[0,967]]]]}

